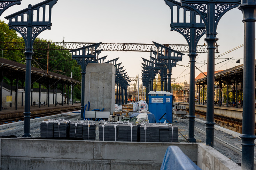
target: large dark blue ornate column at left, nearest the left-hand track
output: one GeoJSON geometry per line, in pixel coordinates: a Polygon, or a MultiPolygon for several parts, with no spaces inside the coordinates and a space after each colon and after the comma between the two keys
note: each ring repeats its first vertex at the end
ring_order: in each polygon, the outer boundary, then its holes
{"type": "Polygon", "coordinates": [[[30,84],[31,84],[31,60],[33,55],[33,43],[36,37],[44,30],[51,29],[52,7],[57,0],[46,0],[37,5],[29,5],[28,8],[5,17],[9,20],[9,29],[14,29],[20,33],[25,41],[26,50],[26,78],[25,78],[25,109],[24,109],[24,134],[28,137],[30,134],[30,84]],[[46,18],[46,5],[49,5],[49,14],[46,18]],[[42,21],[39,21],[39,8],[42,8],[42,21]],[[24,17],[25,16],[25,17],[24,17]],[[21,17],[21,21],[18,21],[21,17]],[[37,18],[34,18],[37,17],[37,18]]]}

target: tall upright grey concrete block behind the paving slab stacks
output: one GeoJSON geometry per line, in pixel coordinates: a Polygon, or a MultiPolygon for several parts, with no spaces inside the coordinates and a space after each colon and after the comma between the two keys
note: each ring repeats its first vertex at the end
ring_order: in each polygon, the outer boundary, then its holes
{"type": "Polygon", "coordinates": [[[114,112],[115,67],[109,63],[89,63],[85,75],[85,101],[90,108],[114,112]]]}

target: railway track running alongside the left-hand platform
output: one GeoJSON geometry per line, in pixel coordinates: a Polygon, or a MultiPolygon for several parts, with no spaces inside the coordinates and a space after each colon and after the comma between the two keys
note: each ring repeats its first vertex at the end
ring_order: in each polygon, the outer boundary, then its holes
{"type": "MultiPolygon", "coordinates": [[[[38,118],[38,117],[45,117],[45,116],[51,116],[51,115],[55,115],[55,114],[60,114],[62,112],[70,112],[70,111],[75,111],[75,110],[79,110],[80,107],[78,108],[72,108],[72,109],[64,109],[64,110],[59,110],[59,111],[50,111],[50,112],[44,112],[44,113],[35,113],[35,114],[31,114],[30,118],[38,118]]],[[[22,121],[24,120],[24,116],[16,116],[16,117],[10,117],[10,118],[4,118],[4,119],[0,119],[0,125],[2,124],[7,124],[7,123],[11,123],[11,122],[17,122],[17,121],[22,121]]]]}

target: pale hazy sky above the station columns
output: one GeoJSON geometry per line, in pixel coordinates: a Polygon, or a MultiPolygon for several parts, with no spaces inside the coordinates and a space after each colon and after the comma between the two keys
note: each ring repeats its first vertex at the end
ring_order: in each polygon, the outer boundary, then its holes
{"type": "MultiPolygon", "coordinates": [[[[0,19],[28,5],[36,5],[42,0],[22,0],[20,6],[12,6],[1,15],[0,19]]],[[[187,44],[185,38],[175,31],[170,31],[170,8],[164,0],[58,0],[52,9],[52,28],[39,34],[42,39],[53,42],[105,42],[105,43],[152,43],[187,44]]],[[[228,11],[217,27],[218,51],[222,54],[243,44],[242,12],[235,8],[228,11]]],[[[204,44],[205,35],[200,39],[204,44]]],[[[51,52],[50,52],[51,53],[51,52]]],[[[143,58],[150,59],[150,52],[112,52],[103,51],[99,57],[107,60],[119,57],[118,63],[126,70],[129,77],[141,77],[143,58]]],[[[230,52],[216,59],[215,70],[224,70],[243,63],[243,48],[230,52]]],[[[185,53],[179,65],[188,66],[189,57],[185,53]]],[[[207,53],[198,53],[196,67],[207,72],[207,53]]],[[[196,69],[195,75],[200,71],[196,69]]],[[[177,83],[186,80],[189,83],[189,68],[177,66],[172,69],[172,78],[177,83]]]]}

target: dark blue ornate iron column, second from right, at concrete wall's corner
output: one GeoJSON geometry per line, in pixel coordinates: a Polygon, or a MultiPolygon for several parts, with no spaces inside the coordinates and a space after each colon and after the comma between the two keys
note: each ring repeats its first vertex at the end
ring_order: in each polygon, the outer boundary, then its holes
{"type": "Polygon", "coordinates": [[[207,65],[207,113],[206,144],[214,147],[214,60],[215,43],[218,41],[217,25],[220,18],[230,9],[239,5],[240,0],[181,0],[181,6],[196,11],[202,18],[206,28],[208,49],[207,65]]]}

